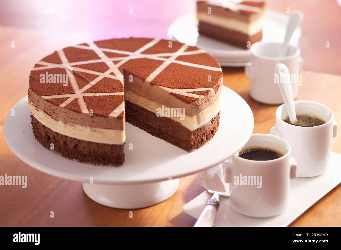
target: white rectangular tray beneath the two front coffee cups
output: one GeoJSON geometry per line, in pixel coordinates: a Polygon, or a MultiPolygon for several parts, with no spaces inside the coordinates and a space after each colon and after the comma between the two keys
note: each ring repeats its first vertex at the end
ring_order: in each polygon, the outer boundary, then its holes
{"type": "MultiPolygon", "coordinates": [[[[218,227],[285,227],[305,212],[316,201],[325,196],[341,182],[341,154],[331,153],[327,172],[310,178],[291,180],[290,202],[287,210],[277,216],[268,218],[248,217],[235,212],[229,205],[228,198],[221,197],[216,221],[218,227]]],[[[211,198],[206,191],[182,207],[182,210],[198,218],[206,202],[211,198]]]]}

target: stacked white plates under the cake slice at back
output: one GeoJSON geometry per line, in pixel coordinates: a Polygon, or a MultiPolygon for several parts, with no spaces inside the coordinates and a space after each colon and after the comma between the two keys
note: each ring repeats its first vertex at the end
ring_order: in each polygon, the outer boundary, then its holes
{"type": "MultiPolygon", "coordinates": [[[[282,43],[288,22],[288,15],[267,10],[263,27],[263,41],[282,43]]],[[[222,41],[201,35],[198,33],[197,19],[195,13],[189,13],[177,18],[168,28],[168,39],[176,39],[181,43],[191,46],[198,46],[213,57],[219,56],[233,62],[234,58],[239,58],[245,62],[250,59],[250,51],[224,43],[222,41]]],[[[298,27],[294,32],[291,44],[298,45],[301,36],[301,28],[298,27]]],[[[219,60],[218,60],[219,61],[219,60]]],[[[220,61],[219,61],[220,62],[220,61]]]]}

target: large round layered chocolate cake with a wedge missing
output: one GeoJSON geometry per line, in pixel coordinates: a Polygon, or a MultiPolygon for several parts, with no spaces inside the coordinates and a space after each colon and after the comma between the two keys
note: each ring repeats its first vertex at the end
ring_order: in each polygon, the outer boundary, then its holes
{"type": "Polygon", "coordinates": [[[222,70],[197,47],[121,38],[67,47],[31,71],[35,138],[84,163],[124,162],[125,121],[188,152],[219,126],[222,70]]]}

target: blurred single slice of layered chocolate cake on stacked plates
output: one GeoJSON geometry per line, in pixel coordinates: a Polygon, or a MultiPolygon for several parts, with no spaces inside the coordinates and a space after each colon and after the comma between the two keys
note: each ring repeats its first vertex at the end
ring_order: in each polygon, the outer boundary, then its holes
{"type": "Polygon", "coordinates": [[[265,2],[198,1],[198,31],[242,48],[262,40],[265,2]]]}

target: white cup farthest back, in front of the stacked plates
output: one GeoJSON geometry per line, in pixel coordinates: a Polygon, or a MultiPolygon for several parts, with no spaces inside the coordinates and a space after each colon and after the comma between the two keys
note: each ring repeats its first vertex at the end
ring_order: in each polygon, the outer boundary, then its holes
{"type": "Polygon", "coordinates": [[[284,103],[281,92],[276,82],[275,65],[285,64],[292,78],[291,84],[294,98],[298,94],[298,86],[302,84],[301,70],[303,59],[300,57],[299,48],[289,46],[284,57],[277,57],[280,43],[254,43],[251,48],[251,61],[245,66],[245,74],[250,78],[250,96],[262,103],[284,103]]]}

